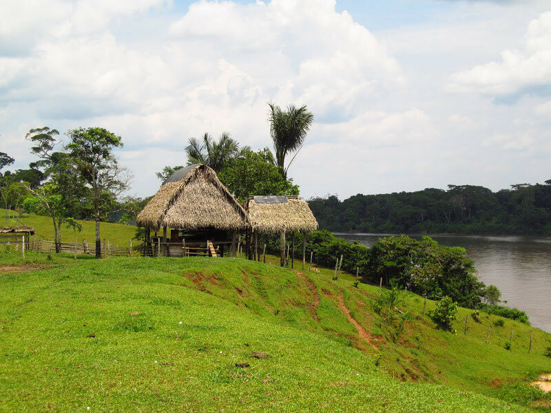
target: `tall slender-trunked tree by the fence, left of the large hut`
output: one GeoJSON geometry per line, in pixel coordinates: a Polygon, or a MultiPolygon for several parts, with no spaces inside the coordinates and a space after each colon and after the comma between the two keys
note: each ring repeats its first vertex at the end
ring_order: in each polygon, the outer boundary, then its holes
{"type": "Polygon", "coordinates": [[[128,187],[129,173],[118,165],[113,149],[122,147],[120,136],[101,127],[72,129],[67,132],[67,149],[80,175],[90,187],[96,221],[96,258],[101,257],[99,223],[102,213],[128,187]]]}

